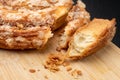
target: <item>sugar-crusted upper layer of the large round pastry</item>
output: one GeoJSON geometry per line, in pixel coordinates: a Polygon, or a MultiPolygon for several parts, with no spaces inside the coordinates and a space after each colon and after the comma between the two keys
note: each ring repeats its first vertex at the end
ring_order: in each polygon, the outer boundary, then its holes
{"type": "Polygon", "coordinates": [[[19,23],[24,29],[36,25],[51,26],[57,18],[56,10],[71,5],[72,0],[0,0],[0,24],[13,27],[19,23]]]}

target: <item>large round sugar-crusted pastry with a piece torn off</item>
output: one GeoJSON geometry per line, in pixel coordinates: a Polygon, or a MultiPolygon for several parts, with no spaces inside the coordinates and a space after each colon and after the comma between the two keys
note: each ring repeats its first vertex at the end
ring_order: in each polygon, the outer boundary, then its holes
{"type": "Polygon", "coordinates": [[[72,0],[0,0],[0,48],[42,48],[71,7],[72,0]]]}

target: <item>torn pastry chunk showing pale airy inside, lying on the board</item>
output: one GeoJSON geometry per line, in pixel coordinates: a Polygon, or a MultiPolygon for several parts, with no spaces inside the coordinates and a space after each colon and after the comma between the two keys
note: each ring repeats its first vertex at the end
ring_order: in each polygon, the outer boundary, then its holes
{"type": "Polygon", "coordinates": [[[116,29],[115,24],[115,19],[94,19],[79,28],[69,43],[68,57],[82,59],[101,49],[112,40],[116,29]]]}

